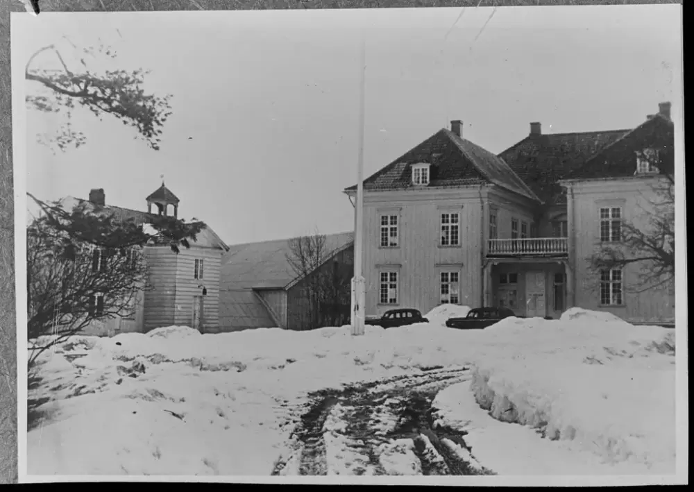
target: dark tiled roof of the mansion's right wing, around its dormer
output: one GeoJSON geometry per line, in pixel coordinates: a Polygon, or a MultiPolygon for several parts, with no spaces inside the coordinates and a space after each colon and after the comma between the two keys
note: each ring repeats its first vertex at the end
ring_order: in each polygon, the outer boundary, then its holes
{"type": "Polygon", "coordinates": [[[634,176],[635,151],[645,147],[658,149],[661,172],[674,169],[675,134],[670,119],[655,114],[641,125],[593,155],[581,167],[566,175],[566,179],[624,178],[634,176]]]}

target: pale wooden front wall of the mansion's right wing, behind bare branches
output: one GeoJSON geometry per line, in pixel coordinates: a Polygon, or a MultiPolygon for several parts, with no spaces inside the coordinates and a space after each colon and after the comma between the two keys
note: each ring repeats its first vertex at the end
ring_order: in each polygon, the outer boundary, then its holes
{"type": "MultiPolygon", "coordinates": [[[[575,253],[571,258],[575,269],[576,305],[586,309],[611,312],[628,321],[670,321],[675,318],[674,285],[636,292],[638,275],[648,265],[628,265],[623,271],[625,305],[600,306],[599,275],[589,269],[588,258],[600,240],[600,207],[620,206],[624,220],[642,228],[648,223],[649,201],[658,201],[653,190],[659,178],[625,178],[621,180],[588,181],[573,185],[573,219],[575,221],[575,253]]],[[[569,197],[571,200],[572,198],[569,197]]]]}

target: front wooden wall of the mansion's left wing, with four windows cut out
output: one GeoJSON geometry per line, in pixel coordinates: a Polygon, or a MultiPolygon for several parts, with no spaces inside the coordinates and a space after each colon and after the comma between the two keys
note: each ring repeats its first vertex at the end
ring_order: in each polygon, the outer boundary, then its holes
{"type": "MultiPolygon", "coordinates": [[[[432,191],[371,192],[364,197],[364,279],[366,314],[381,315],[393,307],[423,313],[439,305],[439,275],[444,267],[459,269],[462,305],[475,306],[482,295],[482,207],[486,190],[479,187],[432,191]],[[439,247],[440,214],[457,211],[461,246],[439,247]],[[398,214],[397,248],[380,247],[380,215],[398,214]],[[379,273],[400,273],[398,305],[380,305],[379,273]]],[[[486,222],[484,226],[486,227],[486,222]]]]}

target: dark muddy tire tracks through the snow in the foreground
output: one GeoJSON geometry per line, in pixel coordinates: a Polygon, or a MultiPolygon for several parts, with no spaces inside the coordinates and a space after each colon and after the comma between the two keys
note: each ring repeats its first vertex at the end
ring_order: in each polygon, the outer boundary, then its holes
{"type": "Polygon", "coordinates": [[[431,403],[468,369],[432,368],[312,394],[293,451],[273,475],[488,475],[464,432],[434,425],[431,403]]]}

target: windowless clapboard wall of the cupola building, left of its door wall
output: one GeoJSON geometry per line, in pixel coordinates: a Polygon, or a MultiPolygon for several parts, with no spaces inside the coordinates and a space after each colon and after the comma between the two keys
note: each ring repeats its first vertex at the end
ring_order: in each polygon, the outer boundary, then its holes
{"type": "Polygon", "coordinates": [[[149,286],[144,294],[144,331],[175,324],[178,257],[169,246],[144,249],[149,286]]]}

